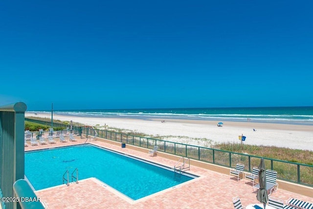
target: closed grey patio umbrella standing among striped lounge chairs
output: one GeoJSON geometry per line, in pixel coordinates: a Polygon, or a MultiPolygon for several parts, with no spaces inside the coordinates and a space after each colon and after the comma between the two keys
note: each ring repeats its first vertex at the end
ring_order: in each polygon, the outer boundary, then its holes
{"type": "Polygon", "coordinates": [[[266,204],[268,202],[268,191],[266,190],[266,170],[265,170],[265,163],[264,159],[261,159],[261,162],[259,164],[260,169],[259,171],[259,185],[260,188],[258,190],[258,193],[256,195],[256,199],[260,201],[260,203],[263,203],[264,208],[266,207],[266,204]]]}

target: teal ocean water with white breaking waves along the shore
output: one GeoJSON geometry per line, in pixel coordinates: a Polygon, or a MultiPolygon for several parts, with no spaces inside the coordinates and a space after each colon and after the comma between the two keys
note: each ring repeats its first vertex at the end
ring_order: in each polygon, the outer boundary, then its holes
{"type": "MultiPolygon", "coordinates": [[[[41,111],[51,113],[50,111],[41,111]]],[[[28,111],[28,113],[40,113],[28,111]]],[[[137,119],[192,119],[248,121],[313,125],[313,107],[245,107],[245,108],[167,108],[54,110],[54,114],[83,117],[124,117],[137,119]]]]}

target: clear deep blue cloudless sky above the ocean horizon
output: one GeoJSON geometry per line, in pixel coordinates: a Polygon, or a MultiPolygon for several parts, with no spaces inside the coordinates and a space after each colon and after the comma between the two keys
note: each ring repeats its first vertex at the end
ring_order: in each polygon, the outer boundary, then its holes
{"type": "Polygon", "coordinates": [[[0,105],[313,106],[313,1],[0,1],[0,105]]]}

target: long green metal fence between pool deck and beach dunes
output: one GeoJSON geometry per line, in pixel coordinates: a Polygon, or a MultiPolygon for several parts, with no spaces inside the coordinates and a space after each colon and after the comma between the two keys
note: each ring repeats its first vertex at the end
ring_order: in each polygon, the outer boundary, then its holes
{"type": "MultiPolygon", "coordinates": [[[[30,121],[28,118],[25,118],[25,120],[30,121]]],[[[32,121],[40,123],[40,120],[32,119],[32,121]]],[[[49,122],[46,123],[46,125],[49,124],[49,122]]],[[[55,126],[57,123],[54,122],[53,125],[55,126]]],[[[99,138],[119,141],[121,143],[131,144],[148,149],[153,149],[154,145],[158,145],[158,150],[161,152],[187,157],[206,163],[213,163],[225,167],[235,167],[236,163],[244,163],[246,171],[251,171],[254,166],[258,166],[260,159],[262,158],[259,156],[228,152],[178,142],[164,141],[160,139],[151,139],[107,130],[96,129],[96,131],[98,132],[97,135],[99,138]]],[[[95,131],[92,128],[81,127],[81,133],[86,134],[87,136],[94,136],[95,131]]],[[[277,171],[278,179],[313,187],[313,165],[292,163],[270,158],[264,158],[264,161],[267,169],[277,171]]]]}

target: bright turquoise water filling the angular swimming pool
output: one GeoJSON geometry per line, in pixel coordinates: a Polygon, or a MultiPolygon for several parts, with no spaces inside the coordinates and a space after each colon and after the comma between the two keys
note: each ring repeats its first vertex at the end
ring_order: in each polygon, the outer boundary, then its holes
{"type": "Polygon", "coordinates": [[[25,175],[36,190],[62,185],[75,168],[79,180],[95,177],[133,200],[193,179],[92,145],[25,153],[25,175]]]}

